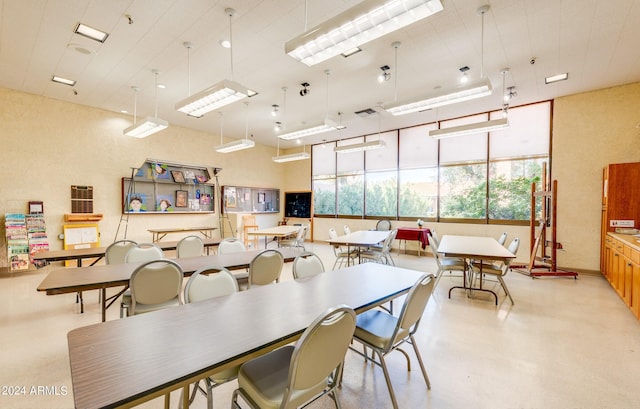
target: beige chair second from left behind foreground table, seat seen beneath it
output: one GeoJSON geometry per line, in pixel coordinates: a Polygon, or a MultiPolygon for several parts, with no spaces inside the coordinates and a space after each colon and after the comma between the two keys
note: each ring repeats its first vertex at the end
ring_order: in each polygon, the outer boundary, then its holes
{"type": "MultiPolygon", "coordinates": [[[[185,304],[222,297],[238,291],[238,281],[226,268],[213,266],[199,268],[187,281],[184,287],[185,304]]],[[[213,389],[223,383],[232,381],[238,376],[239,366],[226,369],[204,378],[206,389],[200,386],[200,381],[193,385],[189,397],[189,405],[193,403],[196,393],[200,391],[207,397],[207,408],[213,409],[213,389]]],[[[182,405],[182,398],[180,398],[182,405]]]]}

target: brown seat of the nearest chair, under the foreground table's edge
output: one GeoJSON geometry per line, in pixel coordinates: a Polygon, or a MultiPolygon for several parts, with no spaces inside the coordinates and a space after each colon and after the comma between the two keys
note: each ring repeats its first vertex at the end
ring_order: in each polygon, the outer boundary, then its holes
{"type": "MultiPolygon", "coordinates": [[[[289,364],[293,351],[294,347],[288,345],[255,358],[240,367],[238,386],[256,403],[257,407],[261,409],[280,407],[288,382],[289,364]]],[[[323,379],[311,388],[296,391],[293,402],[304,403],[322,392],[326,386],[327,382],[323,379]]]]}

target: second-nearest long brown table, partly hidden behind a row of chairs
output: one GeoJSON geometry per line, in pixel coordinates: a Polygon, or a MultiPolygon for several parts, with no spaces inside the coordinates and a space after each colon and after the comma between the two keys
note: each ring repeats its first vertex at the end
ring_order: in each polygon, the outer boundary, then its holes
{"type": "MultiPolygon", "coordinates": [[[[262,250],[250,250],[240,253],[188,257],[174,259],[184,272],[185,276],[190,276],[197,269],[204,266],[225,267],[229,270],[239,270],[248,268],[251,260],[262,250]]],[[[293,248],[278,249],[284,256],[285,262],[291,262],[300,254],[293,248]]],[[[38,291],[46,292],[47,295],[69,294],[89,290],[100,290],[102,292],[101,307],[102,321],[106,319],[106,311],[120,295],[111,297],[111,302],[107,304],[107,288],[129,286],[129,279],[133,271],[143,263],[128,264],[103,264],[89,267],[59,268],[51,271],[38,286],[38,291]]],[[[236,275],[237,278],[245,278],[244,275],[236,275]]],[[[123,290],[124,291],[124,290],[123,290]]]]}

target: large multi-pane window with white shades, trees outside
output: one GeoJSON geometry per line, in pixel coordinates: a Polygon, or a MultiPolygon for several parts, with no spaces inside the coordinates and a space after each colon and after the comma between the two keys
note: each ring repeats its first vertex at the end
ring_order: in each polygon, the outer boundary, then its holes
{"type": "Polygon", "coordinates": [[[525,221],[531,183],[549,162],[551,103],[511,108],[509,127],[446,139],[437,128],[496,119],[502,111],[338,141],[382,139],[385,149],[336,154],[313,147],[315,213],[322,216],[525,221]]]}

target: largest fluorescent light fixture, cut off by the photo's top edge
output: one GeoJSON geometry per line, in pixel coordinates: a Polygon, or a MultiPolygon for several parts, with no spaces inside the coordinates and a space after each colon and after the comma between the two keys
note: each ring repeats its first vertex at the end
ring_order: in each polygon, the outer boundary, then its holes
{"type": "Polygon", "coordinates": [[[440,0],[364,0],[287,41],[285,52],[312,66],[442,10],[440,0]]]}

